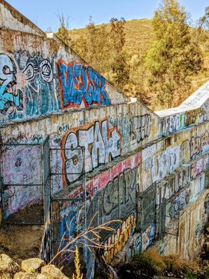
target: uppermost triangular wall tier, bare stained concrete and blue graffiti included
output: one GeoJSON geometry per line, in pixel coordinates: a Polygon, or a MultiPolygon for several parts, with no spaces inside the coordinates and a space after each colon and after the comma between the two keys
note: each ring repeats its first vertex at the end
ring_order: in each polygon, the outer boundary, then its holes
{"type": "Polygon", "coordinates": [[[3,123],[125,101],[104,77],[53,39],[1,30],[0,42],[3,123]]]}

